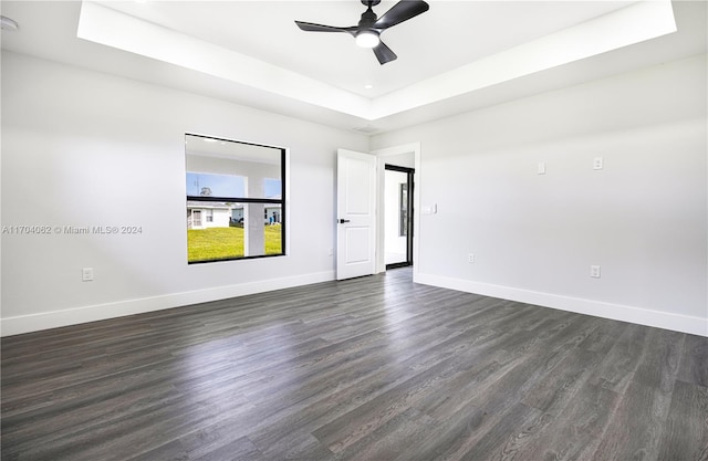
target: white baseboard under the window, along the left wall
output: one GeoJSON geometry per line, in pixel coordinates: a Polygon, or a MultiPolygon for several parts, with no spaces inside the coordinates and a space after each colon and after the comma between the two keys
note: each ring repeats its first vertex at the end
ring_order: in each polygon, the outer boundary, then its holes
{"type": "Polygon", "coordinates": [[[263,293],[273,290],[310,285],[313,283],[334,280],[334,271],[326,271],[290,277],[242,283],[238,285],[217,286],[214,289],[197,290],[191,292],[173,293],[160,296],[118,301],[115,303],[96,304],[62,311],[43,312],[40,314],[7,317],[0,319],[0,336],[12,336],[22,333],[39,332],[41,329],[56,328],[61,326],[76,325],[87,322],[104,321],[107,318],[123,317],[126,315],[142,314],[145,312],[162,311],[165,308],[206,303],[209,301],[226,300],[229,297],[244,296],[248,294],[263,293]]]}

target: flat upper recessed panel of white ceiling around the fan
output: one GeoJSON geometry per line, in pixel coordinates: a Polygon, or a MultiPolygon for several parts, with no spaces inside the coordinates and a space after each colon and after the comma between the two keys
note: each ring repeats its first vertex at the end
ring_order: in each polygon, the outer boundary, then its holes
{"type": "MultiPolygon", "coordinates": [[[[348,34],[305,33],[294,20],[355,25],[365,7],[348,1],[102,2],[110,8],[216,43],[332,86],[376,97],[451,71],[631,1],[431,2],[430,11],[383,33],[400,57],[381,65],[348,34]],[[501,28],[500,28],[501,27],[501,28]],[[455,51],[455,52],[451,52],[455,51]],[[425,65],[420,65],[425,63],[425,65]],[[372,91],[365,84],[374,84],[372,91]]],[[[374,7],[382,15],[395,1],[374,7]]]]}

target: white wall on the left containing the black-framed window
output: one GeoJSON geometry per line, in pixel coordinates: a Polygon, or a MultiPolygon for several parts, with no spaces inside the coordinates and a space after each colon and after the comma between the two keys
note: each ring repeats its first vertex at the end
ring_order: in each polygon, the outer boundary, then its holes
{"type": "Polygon", "coordinates": [[[2,226],[142,233],[2,234],[2,334],[333,279],[337,147],[368,138],[3,52],[2,226]],[[288,256],[187,264],[185,133],[290,149],[288,256]]]}

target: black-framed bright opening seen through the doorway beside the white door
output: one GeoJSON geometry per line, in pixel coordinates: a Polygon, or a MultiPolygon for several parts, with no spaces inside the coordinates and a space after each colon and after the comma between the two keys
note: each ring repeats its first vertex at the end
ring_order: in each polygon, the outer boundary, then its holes
{"type": "Polygon", "coordinates": [[[385,165],[384,255],[386,269],[413,265],[414,168],[385,165]]]}

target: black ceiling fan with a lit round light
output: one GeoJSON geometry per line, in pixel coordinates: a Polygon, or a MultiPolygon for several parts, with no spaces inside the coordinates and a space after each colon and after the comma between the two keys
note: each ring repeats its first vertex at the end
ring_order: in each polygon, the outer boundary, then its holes
{"type": "Polygon", "coordinates": [[[362,14],[357,25],[337,28],[302,21],[295,21],[295,24],[306,32],[346,32],[356,39],[357,45],[373,49],[376,59],[383,65],[398,56],[381,41],[381,33],[388,28],[428,11],[430,8],[423,0],[402,0],[378,18],[372,7],[381,3],[381,0],[362,0],[362,3],[366,7],[366,11],[362,14]]]}

